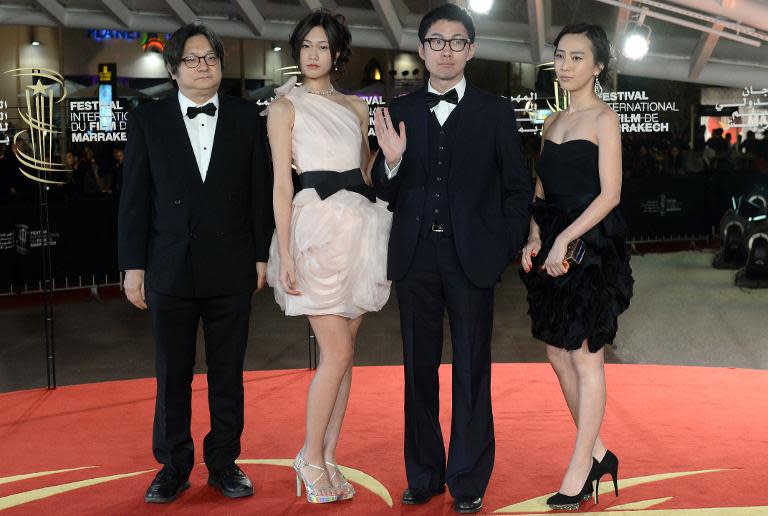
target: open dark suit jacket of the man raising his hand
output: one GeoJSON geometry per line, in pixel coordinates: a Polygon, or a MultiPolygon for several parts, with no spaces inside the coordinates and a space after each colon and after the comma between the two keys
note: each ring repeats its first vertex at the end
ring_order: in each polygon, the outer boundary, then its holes
{"type": "MultiPolygon", "coordinates": [[[[388,276],[408,272],[421,227],[430,158],[429,112],[424,88],[395,99],[390,115],[395,127],[405,122],[407,146],[392,180],[384,156],[374,166],[377,194],[393,207],[388,276]]],[[[498,281],[517,255],[528,231],[531,180],[523,167],[515,112],[508,99],[467,84],[451,144],[448,202],[459,260],[469,280],[481,288],[498,281]]]]}

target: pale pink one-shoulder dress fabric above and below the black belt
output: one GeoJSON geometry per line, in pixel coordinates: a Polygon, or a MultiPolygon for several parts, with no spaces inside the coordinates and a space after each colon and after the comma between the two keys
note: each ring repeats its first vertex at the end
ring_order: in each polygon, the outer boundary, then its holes
{"type": "MultiPolygon", "coordinates": [[[[360,167],[362,133],[348,107],[294,87],[276,90],[294,107],[292,157],[298,174],[360,167]]],[[[272,238],[267,281],[286,315],[340,315],[355,318],[380,310],[389,299],[387,245],[392,213],[387,203],[339,190],[321,199],[314,188],[293,199],[289,249],[299,296],[280,282],[277,234],[272,238]]]]}

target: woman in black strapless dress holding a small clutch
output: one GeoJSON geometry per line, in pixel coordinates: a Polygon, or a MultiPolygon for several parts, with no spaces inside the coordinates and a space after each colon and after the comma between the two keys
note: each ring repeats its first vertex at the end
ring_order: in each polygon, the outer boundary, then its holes
{"type": "MultiPolygon", "coordinates": [[[[554,509],[576,510],[593,482],[610,474],[618,459],[600,439],[605,412],[603,346],[616,336],[617,318],[632,297],[621,196],[618,116],[599,98],[610,44],[602,28],[565,27],[555,40],[555,72],[570,93],[565,111],[544,124],[530,237],[523,249],[533,336],[547,344],[576,422],[576,444],[554,509]],[[580,264],[565,261],[569,242],[580,238],[580,264]]],[[[618,489],[616,488],[618,495],[618,489]]]]}

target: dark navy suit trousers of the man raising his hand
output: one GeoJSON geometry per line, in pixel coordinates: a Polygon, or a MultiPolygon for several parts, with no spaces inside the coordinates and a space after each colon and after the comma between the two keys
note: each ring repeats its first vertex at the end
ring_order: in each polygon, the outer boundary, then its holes
{"type": "Polygon", "coordinates": [[[493,288],[473,285],[461,269],[453,238],[420,238],[405,277],[396,282],[405,369],[405,469],[408,486],[454,497],[483,496],[493,470],[491,410],[493,288]],[[438,367],[443,318],[453,348],[451,440],[446,468],[438,419],[438,367]]]}

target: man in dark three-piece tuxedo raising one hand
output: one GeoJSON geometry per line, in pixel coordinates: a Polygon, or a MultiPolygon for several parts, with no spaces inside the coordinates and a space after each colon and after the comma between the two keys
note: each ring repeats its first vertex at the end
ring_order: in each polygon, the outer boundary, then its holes
{"type": "Polygon", "coordinates": [[[394,207],[388,274],[405,362],[403,503],[429,501],[447,480],[462,513],[482,508],[493,469],[493,289],[522,246],[532,196],[511,103],[464,78],[474,38],[466,9],[447,4],[427,13],[419,56],[428,86],[375,114],[374,184],[394,207]],[[446,308],[453,345],[447,471],[437,374],[446,308]]]}

